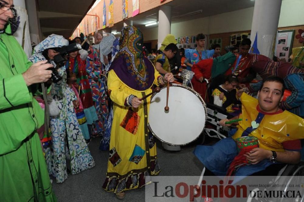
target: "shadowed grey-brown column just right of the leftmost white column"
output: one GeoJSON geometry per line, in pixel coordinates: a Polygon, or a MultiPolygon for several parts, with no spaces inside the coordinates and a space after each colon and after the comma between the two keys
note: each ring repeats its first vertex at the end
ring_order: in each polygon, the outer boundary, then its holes
{"type": "Polygon", "coordinates": [[[36,2],[35,0],[26,0],[25,4],[27,13],[29,15],[29,34],[31,41],[38,44],[42,40],[40,35],[40,21],[37,15],[36,2]]]}

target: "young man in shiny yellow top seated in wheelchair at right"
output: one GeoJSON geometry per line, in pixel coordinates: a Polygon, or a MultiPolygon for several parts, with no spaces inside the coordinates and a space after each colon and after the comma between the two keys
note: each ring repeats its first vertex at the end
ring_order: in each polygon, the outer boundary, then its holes
{"type": "MultiPolygon", "coordinates": [[[[283,93],[284,81],[272,76],[263,79],[258,99],[242,94],[242,113],[233,118],[242,119],[237,129],[212,146],[199,145],[194,150],[206,167],[205,175],[276,175],[282,163],[299,163],[304,120],[280,109],[283,93]],[[256,137],[258,147],[238,154],[236,139],[244,136],[256,137]]],[[[227,121],[221,120],[220,125],[231,126],[227,121]]]]}

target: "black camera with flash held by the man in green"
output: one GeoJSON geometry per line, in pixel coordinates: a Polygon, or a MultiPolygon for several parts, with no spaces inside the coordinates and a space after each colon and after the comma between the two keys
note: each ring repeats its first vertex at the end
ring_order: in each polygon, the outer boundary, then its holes
{"type": "Polygon", "coordinates": [[[51,79],[54,83],[57,83],[62,78],[59,75],[57,69],[61,66],[65,65],[65,62],[67,61],[66,55],[71,52],[75,52],[81,49],[81,45],[79,43],[72,43],[70,45],[64,45],[59,49],[59,54],[54,56],[54,59],[49,59],[47,62],[50,64],[56,64],[56,68],[52,67],[49,68],[49,70],[52,70],[52,76],[51,79]]]}

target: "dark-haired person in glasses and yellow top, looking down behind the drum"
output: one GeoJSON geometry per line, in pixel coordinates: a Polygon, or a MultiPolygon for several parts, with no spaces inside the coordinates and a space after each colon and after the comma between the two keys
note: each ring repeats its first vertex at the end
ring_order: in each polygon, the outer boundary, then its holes
{"type": "Polygon", "coordinates": [[[155,58],[155,69],[161,75],[164,76],[165,74],[171,72],[169,59],[174,58],[177,51],[178,47],[174,43],[170,43],[165,47],[164,51],[155,58]]]}

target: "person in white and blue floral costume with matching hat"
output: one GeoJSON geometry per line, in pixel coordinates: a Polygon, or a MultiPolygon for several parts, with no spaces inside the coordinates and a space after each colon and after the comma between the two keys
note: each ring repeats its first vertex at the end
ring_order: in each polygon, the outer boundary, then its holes
{"type": "Polygon", "coordinates": [[[55,64],[50,92],[60,113],[50,118],[52,148],[45,150],[45,157],[49,173],[56,177],[57,183],[67,179],[67,169],[77,174],[95,166],[74,110],[73,101],[77,97],[67,86],[64,64],[70,51],[74,51],[74,44],[68,45],[63,36],[52,34],[35,47],[29,58],[33,62],[47,59],[55,64]],[[71,168],[67,168],[67,159],[71,159],[71,168]]]}

